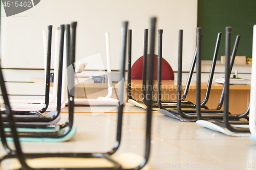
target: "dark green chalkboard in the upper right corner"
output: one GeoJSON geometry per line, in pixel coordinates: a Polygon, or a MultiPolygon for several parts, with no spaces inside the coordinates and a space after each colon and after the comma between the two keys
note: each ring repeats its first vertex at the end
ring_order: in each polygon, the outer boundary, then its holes
{"type": "Polygon", "coordinates": [[[222,39],[218,54],[225,55],[225,27],[232,27],[232,44],[241,35],[237,56],[251,58],[252,30],[256,24],[255,0],[198,0],[198,27],[203,28],[202,59],[212,60],[218,32],[222,39]]]}

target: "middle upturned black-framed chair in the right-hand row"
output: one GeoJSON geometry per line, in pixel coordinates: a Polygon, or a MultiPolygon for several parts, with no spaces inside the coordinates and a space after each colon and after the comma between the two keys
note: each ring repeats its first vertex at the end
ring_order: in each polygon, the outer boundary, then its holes
{"type": "MultiPolygon", "coordinates": [[[[159,107],[160,107],[160,110],[158,112],[160,112],[162,114],[165,114],[169,117],[179,119],[182,122],[196,122],[198,119],[202,119],[202,118],[208,119],[208,120],[223,119],[223,110],[220,110],[220,109],[201,110],[202,103],[201,103],[201,29],[200,28],[198,28],[197,33],[200,34],[200,35],[197,35],[197,95],[196,95],[196,98],[197,98],[196,102],[197,103],[196,103],[196,110],[195,109],[181,109],[182,34],[183,34],[182,31],[180,31],[180,34],[179,34],[179,57],[178,57],[179,58],[178,59],[179,63],[178,63],[178,84],[177,84],[177,86],[178,86],[178,89],[177,89],[178,102],[177,102],[177,109],[171,109],[171,110],[170,109],[169,110],[165,109],[161,105],[161,100],[160,100],[160,95],[161,94],[158,94],[158,104],[159,104],[159,107]],[[202,112],[203,115],[201,115],[201,114],[198,115],[198,112],[200,112],[200,113],[202,112]]],[[[218,37],[218,39],[219,39],[219,37],[218,37]]],[[[217,39],[217,42],[218,42],[218,39],[217,39]]],[[[234,45],[235,51],[233,51],[233,54],[232,54],[233,58],[234,58],[234,56],[236,56],[236,50],[237,50],[238,42],[239,42],[239,39],[237,38],[236,43],[234,45]]],[[[216,49],[217,48],[218,48],[218,46],[216,46],[216,49]]],[[[216,62],[216,58],[217,58],[217,55],[215,53],[214,62],[216,62]]],[[[211,70],[209,82],[212,81],[213,72],[214,72],[214,70],[211,70]]],[[[230,72],[228,72],[229,75],[230,75],[230,72]]],[[[209,86],[208,86],[208,89],[210,89],[209,86]]],[[[222,97],[220,99],[220,102],[223,103],[222,97]]],[[[241,117],[235,116],[235,115],[229,115],[229,117],[232,118],[232,119],[240,119],[241,118],[241,117]]]]}

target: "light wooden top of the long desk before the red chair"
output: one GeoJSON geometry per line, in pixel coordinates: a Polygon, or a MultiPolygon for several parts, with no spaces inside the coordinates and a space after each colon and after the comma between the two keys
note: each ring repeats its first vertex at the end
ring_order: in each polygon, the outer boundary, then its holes
{"type": "MultiPolygon", "coordinates": [[[[45,86],[45,78],[31,78],[32,82],[45,86]]],[[[127,87],[127,80],[125,81],[127,87]]],[[[108,83],[75,83],[76,87],[87,87],[87,88],[107,88],[108,83]]],[[[185,88],[186,81],[182,81],[182,88],[185,88]]],[[[50,84],[53,87],[53,83],[50,84]]],[[[236,84],[230,85],[230,90],[250,90],[250,85],[246,84],[236,84]]],[[[142,88],[142,80],[132,80],[132,88],[141,89],[142,88]]],[[[177,81],[174,80],[162,80],[162,89],[177,89],[177,81]]],[[[223,84],[212,82],[211,89],[222,89],[223,84]]],[[[154,80],[154,90],[157,89],[157,81],[154,80]]],[[[197,89],[196,81],[191,81],[189,89],[197,89]]],[[[202,81],[201,89],[207,89],[207,81],[202,81]]]]}

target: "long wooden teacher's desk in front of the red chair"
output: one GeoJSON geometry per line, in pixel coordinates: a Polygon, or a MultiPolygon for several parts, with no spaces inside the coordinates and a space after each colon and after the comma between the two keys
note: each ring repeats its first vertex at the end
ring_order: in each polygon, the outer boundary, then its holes
{"type": "MultiPolygon", "coordinates": [[[[31,81],[45,85],[44,78],[31,78],[31,81]]],[[[127,84],[127,82],[126,82],[127,84]]],[[[182,81],[182,91],[184,90],[186,81],[182,81]]],[[[53,84],[51,83],[51,86],[53,84]]],[[[91,98],[97,99],[99,96],[108,94],[107,83],[78,83],[76,84],[76,98],[91,98]]],[[[215,109],[219,103],[223,85],[213,82],[211,86],[209,100],[206,104],[209,109],[215,109]]],[[[126,85],[127,88],[127,85],[126,85]]],[[[207,82],[201,83],[201,101],[205,98],[207,82]]],[[[142,80],[132,80],[132,96],[136,100],[142,99],[142,80]]],[[[154,81],[154,100],[157,100],[157,81],[154,81]]],[[[240,114],[246,111],[250,101],[250,85],[230,85],[229,86],[229,111],[232,114],[240,114]],[[236,106],[236,107],[234,107],[236,106]]],[[[118,91],[118,90],[116,90],[118,91]]],[[[115,89],[113,88],[113,92],[115,89]]],[[[163,100],[177,100],[177,81],[163,80],[162,81],[163,100]]],[[[116,93],[112,94],[112,98],[117,99],[116,93]]],[[[196,103],[196,81],[191,81],[187,94],[188,101],[196,103]]]]}

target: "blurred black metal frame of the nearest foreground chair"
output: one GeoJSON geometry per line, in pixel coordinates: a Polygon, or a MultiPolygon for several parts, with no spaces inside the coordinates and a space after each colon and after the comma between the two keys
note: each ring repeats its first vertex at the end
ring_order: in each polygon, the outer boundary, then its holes
{"type": "MultiPolygon", "coordinates": [[[[76,22],[72,22],[72,28],[76,27],[76,22]]],[[[126,57],[126,41],[127,41],[127,26],[128,26],[128,22],[123,22],[123,34],[122,34],[122,59],[121,59],[121,74],[124,77],[124,72],[125,72],[125,57],[126,57]]],[[[155,30],[156,30],[156,18],[151,18],[151,41],[150,41],[150,63],[149,66],[152,68],[151,70],[149,70],[149,75],[153,75],[154,73],[154,47],[155,47],[155,30]]],[[[72,33],[73,33],[73,29],[72,29],[72,33]]],[[[75,34],[72,34],[72,44],[71,44],[71,56],[74,59],[75,56],[75,34]]],[[[69,62],[69,63],[73,63],[73,62],[69,62]]],[[[68,79],[71,78],[69,81],[69,83],[71,83],[71,85],[74,85],[74,74],[69,73],[68,74],[68,79]]],[[[148,78],[148,84],[152,85],[153,84],[153,76],[150,76],[148,78]]],[[[124,86],[124,82],[121,82],[121,86],[124,86]]],[[[1,86],[2,87],[2,86],[1,86]]],[[[70,87],[70,86],[69,86],[70,87]]],[[[119,93],[120,96],[123,97],[123,88],[119,89],[119,93]]],[[[147,91],[147,96],[150,96],[150,98],[148,99],[148,103],[152,103],[152,89],[148,89],[147,91]]],[[[12,117],[12,113],[11,113],[11,109],[10,107],[8,107],[9,105],[9,101],[8,101],[8,96],[5,97],[5,104],[7,105],[7,114],[9,117],[9,122],[11,126],[11,130],[13,133],[13,139],[14,139],[14,144],[15,144],[15,148],[16,151],[13,151],[16,155],[16,157],[18,158],[20,164],[22,164],[22,168],[21,169],[34,169],[32,167],[30,167],[27,163],[25,158],[42,158],[42,157],[76,157],[76,158],[104,158],[107,159],[111,162],[113,162],[115,164],[114,167],[103,167],[103,168],[99,168],[99,167],[95,167],[95,168],[39,168],[39,169],[124,169],[122,168],[121,164],[119,164],[118,162],[116,162],[115,160],[113,160],[110,156],[113,155],[117,149],[120,146],[120,142],[121,142],[121,132],[122,132],[122,115],[123,115],[123,104],[121,104],[118,107],[118,121],[117,121],[117,136],[116,136],[116,142],[114,144],[114,147],[111,151],[109,151],[108,153],[44,153],[44,154],[24,154],[22,152],[22,149],[20,147],[20,143],[18,140],[18,135],[16,132],[16,128],[15,128],[15,121],[12,117]]],[[[69,111],[73,111],[74,110],[74,100],[73,100],[73,96],[70,95],[69,93],[69,111]]],[[[73,114],[72,114],[73,115],[73,114]]],[[[1,122],[1,125],[2,122],[1,122]]],[[[152,109],[151,109],[151,105],[148,107],[147,109],[147,116],[146,116],[146,140],[145,140],[145,155],[144,155],[144,159],[143,161],[140,163],[139,166],[135,167],[135,168],[129,168],[129,169],[141,169],[146,162],[148,161],[149,155],[150,155],[150,147],[151,147],[151,125],[152,125],[152,109]]]]}

